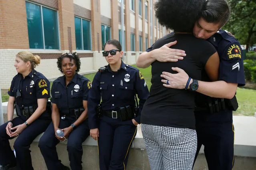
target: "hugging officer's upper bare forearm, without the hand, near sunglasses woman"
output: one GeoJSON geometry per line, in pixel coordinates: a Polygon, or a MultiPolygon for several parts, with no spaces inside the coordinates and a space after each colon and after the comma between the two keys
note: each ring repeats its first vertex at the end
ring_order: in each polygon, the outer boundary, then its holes
{"type": "Polygon", "coordinates": [[[136,61],[137,67],[140,67],[140,68],[149,67],[151,65],[151,63],[153,63],[155,61],[155,59],[151,57],[151,54],[153,52],[154,52],[154,50],[150,51],[150,52],[141,53],[136,61]]]}

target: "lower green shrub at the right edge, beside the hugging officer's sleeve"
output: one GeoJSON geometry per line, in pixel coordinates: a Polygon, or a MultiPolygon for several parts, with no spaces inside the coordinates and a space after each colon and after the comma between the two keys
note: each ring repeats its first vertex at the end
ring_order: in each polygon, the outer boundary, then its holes
{"type": "Polygon", "coordinates": [[[256,75],[252,75],[255,73],[255,65],[256,65],[256,60],[252,59],[245,59],[244,60],[244,76],[245,79],[248,81],[253,81],[252,79],[255,79],[256,81],[256,75]]]}

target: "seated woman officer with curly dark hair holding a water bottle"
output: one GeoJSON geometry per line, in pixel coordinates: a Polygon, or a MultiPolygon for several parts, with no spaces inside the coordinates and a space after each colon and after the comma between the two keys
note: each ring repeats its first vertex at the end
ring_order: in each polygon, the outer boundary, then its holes
{"type": "Polygon", "coordinates": [[[64,75],[52,84],[52,123],[40,138],[38,146],[48,170],[69,169],[58,160],[56,152],[56,145],[69,138],[67,150],[71,169],[81,170],[82,143],[89,136],[87,98],[91,82],[77,73],[81,61],[76,53],[58,57],[57,65],[64,75]],[[57,129],[64,132],[63,137],[56,135],[57,129]]]}

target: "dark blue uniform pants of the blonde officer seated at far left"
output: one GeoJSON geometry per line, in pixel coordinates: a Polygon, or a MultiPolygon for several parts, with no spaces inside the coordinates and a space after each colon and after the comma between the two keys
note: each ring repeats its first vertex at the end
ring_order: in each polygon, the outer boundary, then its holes
{"type": "MultiPolygon", "coordinates": [[[[25,117],[16,117],[13,119],[12,127],[20,125],[26,121],[25,117]]],[[[44,132],[50,123],[50,119],[36,119],[29,127],[25,128],[17,137],[14,142],[14,149],[16,152],[16,158],[10,147],[10,136],[6,134],[6,123],[0,126],[0,164],[17,164],[18,170],[33,170],[30,144],[33,140],[44,132]]]]}

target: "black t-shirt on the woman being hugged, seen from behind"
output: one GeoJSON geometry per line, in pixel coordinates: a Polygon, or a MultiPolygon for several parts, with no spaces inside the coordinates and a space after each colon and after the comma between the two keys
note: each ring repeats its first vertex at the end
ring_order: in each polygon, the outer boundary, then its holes
{"type": "Polygon", "coordinates": [[[157,40],[153,49],[177,40],[171,48],[182,49],[187,54],[177,62],[152,63],[152,78],[149,97],[141,113],[141,123],[166,127],[195,128],[194,95],[185,89],[171,89],[163,86],[161,73],[167,71],[177,73],[171,67],[179,67],[194,79],[200,80],[209,57],[216,52],[214,46],[203,39],[195,38],[192,34],[167,35],[157,40]]]}

